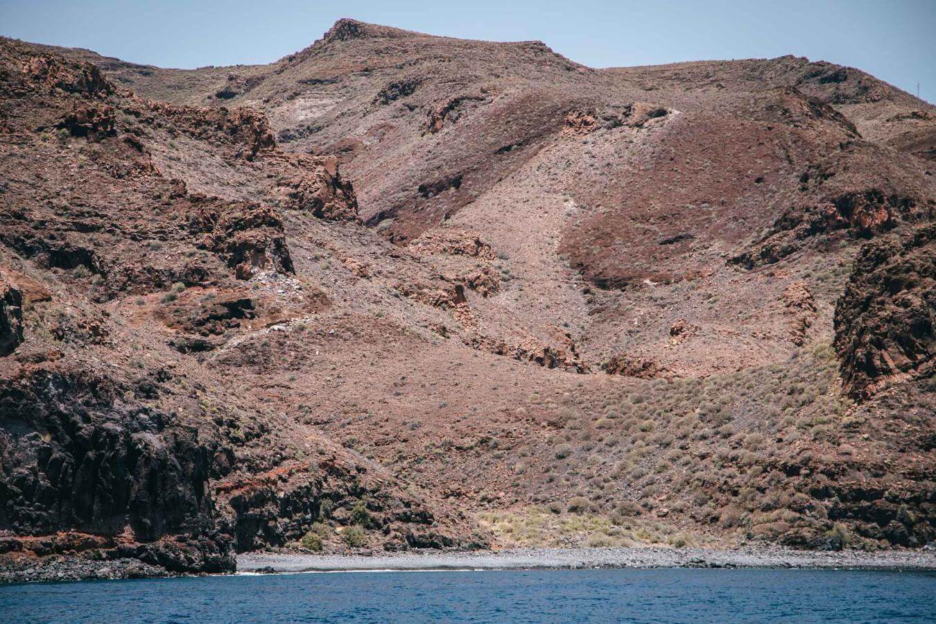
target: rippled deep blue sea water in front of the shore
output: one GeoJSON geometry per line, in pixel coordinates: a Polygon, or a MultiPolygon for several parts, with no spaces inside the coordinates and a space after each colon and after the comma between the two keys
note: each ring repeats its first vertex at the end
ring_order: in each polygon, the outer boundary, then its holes
{"type": "Polygon", "coordinates": [[[0,587],[2,622],[936,621],[936,573],[305,573],[0,587]]]}

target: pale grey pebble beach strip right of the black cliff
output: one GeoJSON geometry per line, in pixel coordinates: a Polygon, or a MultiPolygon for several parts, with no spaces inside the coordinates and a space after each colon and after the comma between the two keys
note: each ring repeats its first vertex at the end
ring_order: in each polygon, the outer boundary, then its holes
{"type": "Polygon", "coordinates": [[[578,570],[594,568],[727,568],[936,571],[936,551],[841,550],[815,552],[780,547],[514,548],[498,551],[306,555],[245,553],[237,573],[455,572],[578,570]]]}

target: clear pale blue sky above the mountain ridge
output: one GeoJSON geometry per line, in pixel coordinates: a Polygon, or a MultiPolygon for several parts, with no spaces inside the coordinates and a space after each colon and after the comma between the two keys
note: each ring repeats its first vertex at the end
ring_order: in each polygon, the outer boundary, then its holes
{"type": "Polygon", "coordinates": [[[0,0],[0,34],[163,67],[269,63],[341,17],[541,39],[592,67],[808,56],[936,101],[936,0],[0,0]]]}

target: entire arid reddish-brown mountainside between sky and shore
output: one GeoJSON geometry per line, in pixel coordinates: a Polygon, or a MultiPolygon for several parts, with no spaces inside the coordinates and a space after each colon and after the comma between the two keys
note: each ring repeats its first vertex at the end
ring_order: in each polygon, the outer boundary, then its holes
{"type": "Polygon", "coordinates": [[[351,20],[197,70],[0,39],[0,83],[8,570],[936,539],[909,94],[351,20]]]}

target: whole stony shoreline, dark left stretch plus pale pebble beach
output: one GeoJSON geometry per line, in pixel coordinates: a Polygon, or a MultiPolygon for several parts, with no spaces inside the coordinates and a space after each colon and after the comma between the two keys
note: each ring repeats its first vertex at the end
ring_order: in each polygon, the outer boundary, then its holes
{"type": "MultiPolygon", "coordinates": [[[[2,559],[0,559],[2,561],[2,559]]],[[[482,572],[587,569],[803,569],[936,572],[936,550],[818,552],[780,546],[734,549],[511,548],[478,551],[408,551],[358,555],[254,552],[237,556],[234,572],[174,573],[138,559],[54,556],[0,564],[0,586],[17,583],[263,573],[482,572]]]]}

